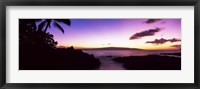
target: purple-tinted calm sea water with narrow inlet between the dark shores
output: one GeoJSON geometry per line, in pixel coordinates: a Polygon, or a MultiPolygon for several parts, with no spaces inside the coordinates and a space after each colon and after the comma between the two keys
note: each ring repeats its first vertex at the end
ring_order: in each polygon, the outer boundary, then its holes
{"type": "Polygon", "coordinates": [[[115,57],[124,56],[144,56],[149,54],[159,53],[176,53],[179,51],[146,51],[146,50],[83,50],[88,54],[93,54],[100,62],[100,70],[126,70],[123,64],[117,63],[112,60],[115,57]]]}

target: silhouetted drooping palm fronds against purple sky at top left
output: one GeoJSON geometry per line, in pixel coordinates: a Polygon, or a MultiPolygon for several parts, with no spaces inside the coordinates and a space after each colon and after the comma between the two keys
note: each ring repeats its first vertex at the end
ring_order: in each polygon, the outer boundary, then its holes
{"type": "Polygon", "coordinates": [[[38,30],[41,31],[45,27],[44,32],[47,32],[47,29],[51,28],[51,23],[53,23],[55,27],[57,27],[62,33],[64,33],[64,29],[59,24],[60,22],[68,26],[71,25],[71,22],[69,19],[44,19],[44,21],[39,24],[38,30]]]}

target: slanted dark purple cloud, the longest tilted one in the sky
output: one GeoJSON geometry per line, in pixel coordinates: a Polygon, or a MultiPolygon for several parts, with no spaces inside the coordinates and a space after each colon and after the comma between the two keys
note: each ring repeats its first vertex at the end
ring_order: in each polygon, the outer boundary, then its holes
{"type": "Polygon", "coordinates": [[[145,30],[145,31],[142,31],[142,32],[138,32],[136,34],[133,34],[130,37],[130,40],[140,39],[140,38],[145,37],[145,36],[153,36],[156,32],[159,32],[160,30],[161,29],[157,27],[155,29],[149,29],[149,30],[145,30]]]}

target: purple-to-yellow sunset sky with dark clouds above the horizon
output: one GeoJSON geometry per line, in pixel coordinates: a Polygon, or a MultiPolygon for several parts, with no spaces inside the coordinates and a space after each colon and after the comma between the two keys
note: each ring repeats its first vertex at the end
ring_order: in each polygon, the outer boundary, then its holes
{"type": "Polygon", "coordinates": [[[59,23],[64,34],[53,25],[57,47],[126,47],[146,50],[179,50],[181,19],[70,19],[59,23]]]}

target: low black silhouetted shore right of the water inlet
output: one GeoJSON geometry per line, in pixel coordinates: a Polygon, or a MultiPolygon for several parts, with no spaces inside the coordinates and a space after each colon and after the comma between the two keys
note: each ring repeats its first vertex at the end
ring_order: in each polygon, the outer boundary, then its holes
{"type": "Polygon", "coordinates": [[[181,58],[178,57],[147,55],[118,57],[113,60],[123,63],[129,70],[181,70],[181,58]]]}

